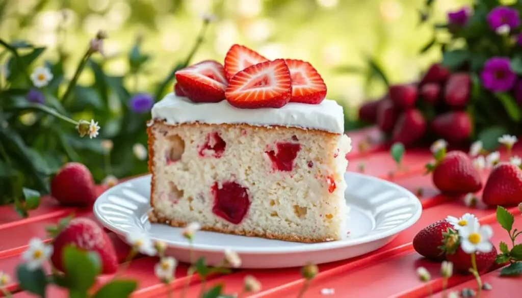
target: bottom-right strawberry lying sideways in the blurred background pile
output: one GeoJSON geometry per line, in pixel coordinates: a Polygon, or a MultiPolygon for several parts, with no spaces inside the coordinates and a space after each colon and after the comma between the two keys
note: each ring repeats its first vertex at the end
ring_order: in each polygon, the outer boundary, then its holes
{"type": "Polygon", "coordinates": [[[450,142],[464,141],[471,135],[472,122],[466,112],[450,111],[435,117],[433,132],[450,142]]]}

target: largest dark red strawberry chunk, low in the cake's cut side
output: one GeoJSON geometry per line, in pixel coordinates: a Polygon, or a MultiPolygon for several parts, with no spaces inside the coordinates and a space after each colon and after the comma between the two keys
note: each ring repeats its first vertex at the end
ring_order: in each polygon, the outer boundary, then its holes
{"type": "Polygon", "coordinates": [[[239,224],[250,208],[248,189],[236,182],[224,182],[221,186],[212,185],[214,202],[212,212],[233,224],[239,224]]]}

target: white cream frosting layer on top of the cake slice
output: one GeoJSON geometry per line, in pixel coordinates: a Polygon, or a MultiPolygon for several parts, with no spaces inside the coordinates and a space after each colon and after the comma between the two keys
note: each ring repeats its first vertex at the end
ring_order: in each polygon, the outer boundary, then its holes
{"type": "Polygon", "coordinates": [[[152,107],[152,118],[168,124],[207,123],[302,127],[342,134],[345,117],[342,106],[325,99],[319,104],[290,102],[282,108],[239,109],[226,100],[218,103],[195,103],[186,97],[167,94],[152,107]]]}

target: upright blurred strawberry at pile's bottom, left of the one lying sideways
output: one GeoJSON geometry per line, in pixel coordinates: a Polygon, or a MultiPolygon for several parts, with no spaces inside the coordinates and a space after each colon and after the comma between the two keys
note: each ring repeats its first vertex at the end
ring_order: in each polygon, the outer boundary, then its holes
{"type": "Polygon", "coordinates": [[[408,146],[419,140],[425,132],[424,116],[419,110],[411,109],[399,116],[393,130],[392,140],[408,146]]]}

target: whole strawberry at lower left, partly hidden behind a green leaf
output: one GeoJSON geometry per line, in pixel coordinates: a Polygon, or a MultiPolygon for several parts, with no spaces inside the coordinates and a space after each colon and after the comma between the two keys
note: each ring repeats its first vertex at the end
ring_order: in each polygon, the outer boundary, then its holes
{"type": "Polygon", "coordinates": [[[114,273],[118,268],[116,252],[109,236],[103,232],[96,222],[88,218],[71,220],[55,237],[52,245],[51,261],[54,267],[62,272],[64,271],[62,264],[63,250],[67,245],[74,245],[76,248],[98,253],[104,274],[114,273]]]}

